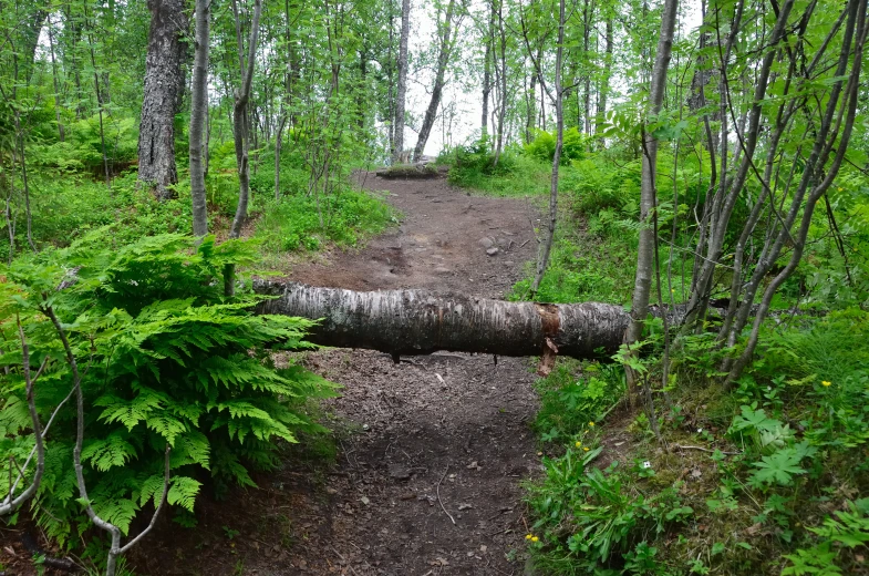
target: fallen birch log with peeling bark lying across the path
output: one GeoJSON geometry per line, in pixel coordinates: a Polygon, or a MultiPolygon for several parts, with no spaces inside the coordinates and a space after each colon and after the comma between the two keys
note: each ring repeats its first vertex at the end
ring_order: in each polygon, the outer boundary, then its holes
{"type": "Polygon", "coordinates": [[[321,319],[308,340],[392,354],[437,350],[539,356],[557,350],[573,358],[612,353],[630,316],[609,304],[507,302],[422,290],[355,292],[257,280],[255,290],[277,296],[258,312],[321,319]]]}

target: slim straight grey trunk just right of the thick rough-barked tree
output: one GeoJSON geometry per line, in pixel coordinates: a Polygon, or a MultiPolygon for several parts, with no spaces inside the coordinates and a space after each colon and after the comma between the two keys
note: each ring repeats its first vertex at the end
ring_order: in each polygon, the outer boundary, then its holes
{"type": "Polygon", "coordinates": [[[203,132],[208,111],[208,41],[209,0],[196,0],[196,55],[194,58],[193,94],[190,97],[190,197],[193,199],[193,235],[208,234],[208,210],[203,166],[203,132]]]}

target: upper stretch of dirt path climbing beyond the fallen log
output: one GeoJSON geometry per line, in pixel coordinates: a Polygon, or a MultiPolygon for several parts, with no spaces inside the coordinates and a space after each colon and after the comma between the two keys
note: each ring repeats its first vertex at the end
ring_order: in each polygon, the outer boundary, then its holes
{"type": "Polygon", "coordinates": [[[389,193],[389,203],[403,214],[401,226],[360,251],[293,267],[293,280],[500,298],[521,278],[524,263],[535,257],[536,214],[526,200],[470,196],[443,178],[390,181],[369,174],[360,179],[366,188],[389,193]]]}

